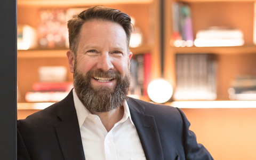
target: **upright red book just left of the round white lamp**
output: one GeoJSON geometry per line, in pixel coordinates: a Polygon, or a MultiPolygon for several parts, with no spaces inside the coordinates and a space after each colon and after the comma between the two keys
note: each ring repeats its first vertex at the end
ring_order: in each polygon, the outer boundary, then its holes
{"type": "Polygon", "coordinates": [[[151,54],[143,54],[144,58],[144,84],[143,84],[143,95],[148,96],[148,85],[151,81],[151,54]]]}

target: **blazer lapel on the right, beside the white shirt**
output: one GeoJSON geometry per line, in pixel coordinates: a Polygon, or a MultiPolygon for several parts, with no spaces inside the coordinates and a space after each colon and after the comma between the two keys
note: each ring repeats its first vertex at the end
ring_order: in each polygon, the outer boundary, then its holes
{"type": "Polygon", "coordinates": [[[138,132],[142,148],[147,160],[163,160],[161,141],[157,131],[154,116],[145,115],[145,107],[137,101],[127,100],[132,121],[138,132]]]}

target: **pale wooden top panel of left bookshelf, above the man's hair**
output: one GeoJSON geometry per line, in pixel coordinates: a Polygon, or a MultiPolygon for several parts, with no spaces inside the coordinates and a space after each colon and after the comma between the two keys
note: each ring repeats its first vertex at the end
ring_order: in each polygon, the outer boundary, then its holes
{"type": "Polygon", "coordinates": [[[106,5],[106,4],[149,4],[153,0],[18,0],[18,5],[28,6],[85,6],[85,5],[106,5]]]}

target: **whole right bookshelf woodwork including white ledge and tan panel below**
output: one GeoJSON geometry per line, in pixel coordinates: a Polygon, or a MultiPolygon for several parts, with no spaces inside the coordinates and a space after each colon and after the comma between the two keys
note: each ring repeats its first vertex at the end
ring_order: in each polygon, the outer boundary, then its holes
{"type": "MultiPolygon", "coordinates": [[[[190,6],[194,38],[198,30],[210,26],[240,28],[245,44],[234,47],[173,47],[172,3],[165,0],[164,77],[175,88],[175,54],[214,53],[218,58],[217,100],[174,101],[189,119],[197,135],[214,159],[255,159],[256,101],[230,101],[228,87],[236,74],[256,75],[256,46],[253,44],[254,2],[243,0],[184,0],[190,6]],[[235,108],[238,107],[238,108],[235,108]],[[251,123],[252,122],[252,123],[251,123]]],[[[255,27],[255,26],[254,26],[255,27]]]]}

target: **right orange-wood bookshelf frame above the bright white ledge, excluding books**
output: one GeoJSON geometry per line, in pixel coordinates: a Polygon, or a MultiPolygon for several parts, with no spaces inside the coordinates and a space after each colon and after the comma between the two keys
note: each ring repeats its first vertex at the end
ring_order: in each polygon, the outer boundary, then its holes
{"type": "Polygon", "coordinates": [[[244,34],[243,46],[231,47],[173,47],[170,37],[173,34],[172,3],[165,1],[165,58],[164,76],[175,88],[175,54],[213,53],[217,55],[217,100],[229,100],[228,88],[236,75],[256,75],[256,46],[253,44],[253,15],[255,1],[185,0],[178,1],[189,5],[193,35],[211,26],[239,28],[244,34]]]}

